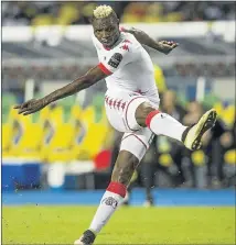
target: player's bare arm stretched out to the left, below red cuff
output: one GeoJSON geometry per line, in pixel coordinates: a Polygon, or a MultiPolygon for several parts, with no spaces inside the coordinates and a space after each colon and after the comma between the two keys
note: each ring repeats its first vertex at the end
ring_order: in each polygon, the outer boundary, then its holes
{"type": "Polygon", "coordinates": [[[77,78],[73,82],[66,85],[65,87],[55,90],[54,92],[50,93],[49,96],[35,100],[29,100],[22,104],[18,104],[14,107],[14,109],[19,110],[19,114],[28,115],[32,114],[36,111],[42,110],[47,104],[52,103],[53,101],[63,99],[65,97],[72,96],[76,92],[79,92],[83,89],[86,89],[99,80],[106,78],[107,75],[98,67],[94,67],[90,70],[87,71],[84,76],[77,78]]]}

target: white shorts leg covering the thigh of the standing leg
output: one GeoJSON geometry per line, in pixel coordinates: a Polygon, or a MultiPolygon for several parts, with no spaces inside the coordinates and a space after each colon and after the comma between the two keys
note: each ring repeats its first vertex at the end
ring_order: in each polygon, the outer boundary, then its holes
{"type": "Polygon", "coordinates": [[[120,151],[127,151],[133,154],[141,162],[153,137],[154,134],[148,127],[143,127],[133,133],[125,133],[121,140],[120,151]]]}

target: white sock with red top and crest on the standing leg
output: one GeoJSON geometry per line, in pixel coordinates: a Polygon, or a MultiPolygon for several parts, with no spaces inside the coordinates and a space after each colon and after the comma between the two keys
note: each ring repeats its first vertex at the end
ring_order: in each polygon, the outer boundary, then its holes
{"type": "Polygon", "coordinates": [[[117,207],[122,203],[126,196],[126,186],[119,182],[110,182],[104,193],[97,212],[92,221],[89,230],[96,234],[100,232],[103,226],[108,222],[117,207]]]}

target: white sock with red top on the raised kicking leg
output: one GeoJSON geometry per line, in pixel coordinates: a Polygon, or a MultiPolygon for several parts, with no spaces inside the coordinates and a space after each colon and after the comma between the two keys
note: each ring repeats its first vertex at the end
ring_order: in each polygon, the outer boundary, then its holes
{"type": "Polygon", "coordinates": [[[158,110],[152,111],[146,119],[147,126],[157,135],[164,135],[181,142],[182,134],[186,126],[174,118],[158,110]]]}

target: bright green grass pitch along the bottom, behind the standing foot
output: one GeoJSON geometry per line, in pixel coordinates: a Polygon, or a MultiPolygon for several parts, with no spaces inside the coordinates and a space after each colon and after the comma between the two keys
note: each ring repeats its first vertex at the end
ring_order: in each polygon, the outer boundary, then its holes
{"type": "MultiPolygon", "coordinates": [[[[2,244],[73,244],[96,207],[4,207],[2,244]]],[[[235,244],[234,208],[122,207],[95,244],[235,244]]]]}

